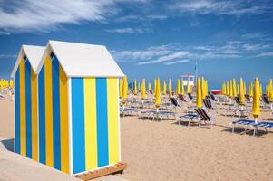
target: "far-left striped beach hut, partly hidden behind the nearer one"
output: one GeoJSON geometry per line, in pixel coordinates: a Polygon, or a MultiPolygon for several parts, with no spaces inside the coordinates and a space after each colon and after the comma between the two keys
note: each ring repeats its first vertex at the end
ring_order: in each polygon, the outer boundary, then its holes
{"type": "Polygon", "coordinates": [[[15,152],[38,160],[38,64],[44,53],[42,46],[23,45],[12,78],[15,82],[15,152]]]}

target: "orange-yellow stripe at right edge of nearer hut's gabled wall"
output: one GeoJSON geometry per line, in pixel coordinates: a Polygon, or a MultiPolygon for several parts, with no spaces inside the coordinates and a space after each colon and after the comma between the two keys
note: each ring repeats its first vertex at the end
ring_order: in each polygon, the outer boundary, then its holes
{"type": "Polygon", "coordinates": [[[60,129],[61,129],[61,170],[69,174],[67,77],[61,65],[60,72],[60,129]]]}

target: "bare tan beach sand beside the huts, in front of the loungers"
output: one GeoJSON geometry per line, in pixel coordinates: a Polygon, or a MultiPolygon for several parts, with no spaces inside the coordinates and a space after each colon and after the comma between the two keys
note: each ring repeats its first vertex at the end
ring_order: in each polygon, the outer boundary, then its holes
{"type": "MultiPolygon", "coordinates": [[[[10,98],[0,100],[0,110],[0,135],[13,138],[10,98]]],[[[121,118],[122,161],[128,168],[116,176],[128,180],[273,180],[272,132],[267,136],[259,131],[253,137],[235,129],[232,134],[229,123],[239,118],[223,116],[224,112],[218,109],[211,129],[188,127],[186,122],[179,126],[174,119],[121,118]]],[[[270,121],[272,116],[262,111],[259,119],[270,121]]]]}

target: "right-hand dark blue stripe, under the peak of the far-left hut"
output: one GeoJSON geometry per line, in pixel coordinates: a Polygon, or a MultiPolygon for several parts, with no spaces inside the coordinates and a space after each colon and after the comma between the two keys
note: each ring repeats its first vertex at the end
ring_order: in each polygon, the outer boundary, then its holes
{"type": "Polygon", "coordinates": [[[32,114],[31,114],[31,65],[25,62],[25,130],[26,157],[32,158],[32,114]]]}

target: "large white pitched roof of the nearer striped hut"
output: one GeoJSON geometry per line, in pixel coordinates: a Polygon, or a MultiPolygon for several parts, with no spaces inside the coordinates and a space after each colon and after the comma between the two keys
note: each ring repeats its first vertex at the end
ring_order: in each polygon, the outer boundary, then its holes
{"type": "Polygon", "coordinates": [[[51,50],[68,77],[123,77],[124,74],[105,46],[83,43],[49,41],[39,63],[39,72],[45,56],[51,50]]]}

